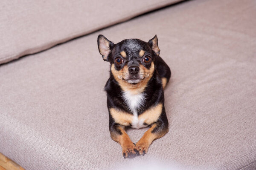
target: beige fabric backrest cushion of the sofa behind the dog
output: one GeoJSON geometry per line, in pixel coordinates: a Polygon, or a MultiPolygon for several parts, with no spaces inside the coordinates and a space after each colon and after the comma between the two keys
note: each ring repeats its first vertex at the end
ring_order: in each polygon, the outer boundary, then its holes
{"type": "Polygon", "coordinates": [[[0,63],[181,0],[2,0],[0,63]]]}

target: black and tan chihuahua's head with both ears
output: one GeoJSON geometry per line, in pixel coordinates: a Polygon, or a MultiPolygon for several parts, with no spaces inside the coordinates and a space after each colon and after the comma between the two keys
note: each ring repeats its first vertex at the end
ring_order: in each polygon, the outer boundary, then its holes
{"type": "Polygon", "coordinates": [[[148,43],[126,39],[117,44],[99,35],[98,48],[103,60],[110,62],[111,74],[122,89],[145,86],[154,73],[154,61],[160,53],[157,35],[148,43]]]}

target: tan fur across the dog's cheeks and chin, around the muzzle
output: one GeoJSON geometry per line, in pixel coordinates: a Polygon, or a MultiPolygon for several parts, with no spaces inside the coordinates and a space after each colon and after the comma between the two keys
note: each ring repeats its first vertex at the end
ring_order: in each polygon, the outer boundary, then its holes
{"type": "Polygon", "coordinates": [[[130,91],[132,94],[138,94],[143,92],[143,90],[147,86],[148,81],[152,77],[154,72],[154,62],[151,63],[150,69],[146,69],[143,65],[140,65],[139,74],[143,75],[144,78],[138,84],[130,84],[127,81],[123,80],[123,78],[127,79],[129,76],[128,66],[126,65],[121,70],[117,71],[114,64],[112,64],[111,72],[115,80],[120,84],[122,90],[130,91]]]}

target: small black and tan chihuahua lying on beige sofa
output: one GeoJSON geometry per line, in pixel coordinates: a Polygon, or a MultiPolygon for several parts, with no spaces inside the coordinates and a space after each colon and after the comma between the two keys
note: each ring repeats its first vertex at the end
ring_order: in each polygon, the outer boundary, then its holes
{"type": "Polygon", "coordinates": [[[163,89],[171,77],[169,66],[159,57],[157,35],[147,42],[126,39],[114,44],[98,36],[99,53],[111,64],[105,85],[111,138],[122,147],[124,158],[143,155],[157,138],[168,132],[163,89]],[[134,144],[126,127],[150,127],[134,144]]]}

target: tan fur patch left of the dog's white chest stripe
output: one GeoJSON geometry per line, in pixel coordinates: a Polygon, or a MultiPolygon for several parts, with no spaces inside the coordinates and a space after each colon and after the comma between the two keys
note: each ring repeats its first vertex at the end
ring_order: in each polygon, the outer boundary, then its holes
{"type": "Polygon", "coordinates": [[[129,126],[133,120],[133,115],[127,112],[123,112],[114,108],[111,108],[109,111],[115,122],[118,124],[129,126]]]}

